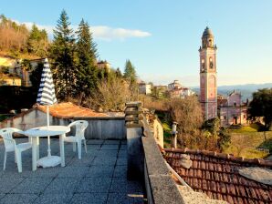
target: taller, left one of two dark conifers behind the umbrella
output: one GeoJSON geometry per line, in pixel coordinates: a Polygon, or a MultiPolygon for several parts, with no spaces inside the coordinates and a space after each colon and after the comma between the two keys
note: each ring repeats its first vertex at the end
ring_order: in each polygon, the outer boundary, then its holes
{"type": "Polygon", "coordinates": [[[77,79],[75,63],[75,38],[69,27],[68,15],[65,10],[60,14],[58,24],[54,30],[54,40],[50,56],[53,60],[53,76],[59,99],[68,100],[74,94],[77,79]]]}

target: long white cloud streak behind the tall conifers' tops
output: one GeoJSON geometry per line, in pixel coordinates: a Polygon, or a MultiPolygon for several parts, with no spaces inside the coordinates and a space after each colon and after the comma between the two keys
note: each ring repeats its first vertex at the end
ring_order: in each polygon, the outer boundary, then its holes
{"type": "MultiPolygon", "coordinates": [[[[33,26],[33,23],[31,22],[23,22],[20,23],[16,21],[18,24],[25,24],[27,28],[31,29],[33,26]]],[[[53,37],[53,29],[55,29],[55,26],[45,26],[45,25],[36,25],[39,29],[45,29],[47,31],[47,34],[50,38],[53,37]]],[[[70,26],[74,31],[78,29],[78,26],[70,26]]],[[[125,29],[125,28],[113,28],[110,26],[90,26],[90,31],[93,34],[94,38],[97,38],[99,40],[125,40],[127,38],[131,37],[147,37],[152,36],[151,33],[146,31],[141,31],[138,29],[125,29]]]]}

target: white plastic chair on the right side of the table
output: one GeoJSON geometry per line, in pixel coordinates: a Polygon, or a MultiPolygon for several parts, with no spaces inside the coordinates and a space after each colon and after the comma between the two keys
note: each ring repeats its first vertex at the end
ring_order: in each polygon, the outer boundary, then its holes
{"type": "Polygon", "coordinates": [[[76,151],[76,143],[78,143],[78,158],[81,158],[81,141],[84,141],[85,151],[87,153],[86,138],[84,137],[85,129],[88,127],[88,122],[86,120],[77,120],[68,125],[69,128],[76,127],[75,136],[66,136],[64,138],[65,142],[73,143],[73,151],[76,151]]]}

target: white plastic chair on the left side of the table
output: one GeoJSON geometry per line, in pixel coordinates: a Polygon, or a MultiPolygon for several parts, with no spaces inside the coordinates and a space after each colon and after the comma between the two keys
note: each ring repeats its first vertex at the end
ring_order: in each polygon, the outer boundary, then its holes
{"type": "Polygon", "coordinates": [[[5,158],[4,158],[4,168],[6,163],[7,152],[15,152],[15,161],[17,163],[17,168],[19,173],[22,172],[22,151],[32,148],[31,142],[21,143],[16,145],[16,140],[12,137],[14,132],[21,131],[17,128],[3,128],[0,129],[0,136],[2,136],[5,145],[5,158]]]}

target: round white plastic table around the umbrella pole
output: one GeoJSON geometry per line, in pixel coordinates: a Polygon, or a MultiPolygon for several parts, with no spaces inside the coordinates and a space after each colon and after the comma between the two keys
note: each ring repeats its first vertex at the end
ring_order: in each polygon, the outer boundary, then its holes
{"type": "Polygon", "coordinates": [[[37,170],[37,160],[39,159],[39,138],[59,136],[60,164],[65,167],[64,137],[70,131],[67,126],[45,126],[22,131],[24,135],[32,138],[32,170],[37,170]]]}

